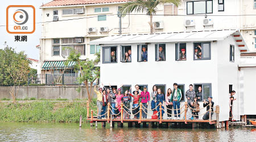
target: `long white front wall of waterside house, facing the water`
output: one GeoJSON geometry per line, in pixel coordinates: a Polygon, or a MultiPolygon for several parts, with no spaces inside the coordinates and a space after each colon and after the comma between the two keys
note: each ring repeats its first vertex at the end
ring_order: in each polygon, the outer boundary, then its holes
{"type": "MultiPolygon", "coordinates": [[[[213,101],[217,103],[217,44],[211,42],[211,60],[193,60],[193,43],[187,43],[187,60],[175,61],[175,43],[166,44],[166,61],[155,61],[155,44],[148,44],[148,61],[137,62],[137,44],[131,45],[132,61],[120,62],[118,46],[118,63],[101,64],[101,82],[108,85],[148,85],[151,92],[155,84],[166,84],[166,91],[173,83],[185,84],[185,91],[189,84],[212,83],[213,101]]],[[[101,56],[102,57],[102,56],[101,56]]],[[[184,95],[184,94],[183,94],[184,95]]],[[[181,106],[184,102],[181,103],[181,106]]],[[[200,107],[203,104],[200,103],[200,107]]],[[[215,109],[216,105],[214,105],[215,109]]],[[[201,110],[200,114],[206,110],[201,110]]],[[[183,117],[183,116],[181,116],[183,117]]],[[[203,117],[203,116],[201,116],[203,117]]],[[[215,118],[215,114],[214,114],[215,118]]]]}

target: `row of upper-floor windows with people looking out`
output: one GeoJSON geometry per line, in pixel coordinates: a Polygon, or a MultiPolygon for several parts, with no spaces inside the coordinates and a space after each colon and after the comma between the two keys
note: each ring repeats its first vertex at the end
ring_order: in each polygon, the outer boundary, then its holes
{"type": "MultiPolygon", "coordinates": [[[[175,59],[187,60],[186,43],[175,44],[175,59]]],[[[131,62],[131,46],[120,47],[120,61],[131,62]]],[[[146,62],[148,59],[147,45],[137,45],[137,61],[146,62]]],[[[117,47],[102,48],[102,63],[117,62],[117,47]]],[[[194,60],[210,60],[210,43],[194,43],[194,60]]],[[[166,61],[166,44],[155,44],[155,61],[166,61]]]]}

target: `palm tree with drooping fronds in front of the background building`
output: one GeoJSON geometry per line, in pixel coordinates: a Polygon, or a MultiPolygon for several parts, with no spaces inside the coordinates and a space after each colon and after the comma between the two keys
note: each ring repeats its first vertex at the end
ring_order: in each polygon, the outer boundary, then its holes
{"type": "Polygon", "coordinates": [[[152,33],[152,15],[156,13],[157,6],[160,3],[174,3],[174,5],[178,6],[180,4],[180,0],[129,0],[122,6],[121,14],[122,16],[126,16],[126,14],[130,14],[133,11],[146,11],[147,15],[150,15],[150,33],[152,33]]]}

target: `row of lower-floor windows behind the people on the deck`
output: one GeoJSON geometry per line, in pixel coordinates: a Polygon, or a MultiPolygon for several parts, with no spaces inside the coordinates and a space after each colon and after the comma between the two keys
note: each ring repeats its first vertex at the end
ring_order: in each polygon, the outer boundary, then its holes
{"type": "MultiPolygon", "coordinates": [[[[143,91],[143,86],[147,85],[139,85],[139,89],[143,91]]],[[[201,96],[199,101],[203,101],[204,99],[207,99],[209,96],[212,96],[212,84],[211,83],[194,83],[194,90],[196,91],[197,95],[201,96]]],[[[106,89],[109,88],[109,86],[104,86],[106,89]]],[[[117,89],[117,86],[111,86],[112,89],[117,89]]],[[[129,90],[131,85],[123,85],[122,86],[122,93],[124,94],[126,90],[129,90]]],[[[178,84],[177,86],[182,93],[181,101],[185,101],[185,84],[178,84]]],[[[147,87],[148,88],[148,87],[147,87]]],[[[161,89],[161,92],[167,93],[167,87],[166,84],[156,84],[156,88],[161,89]]],[[[171,87],[172,88],[172,87],[171,87]]],[[[151,93],[151,89],[147,89],[151,93]]]]}

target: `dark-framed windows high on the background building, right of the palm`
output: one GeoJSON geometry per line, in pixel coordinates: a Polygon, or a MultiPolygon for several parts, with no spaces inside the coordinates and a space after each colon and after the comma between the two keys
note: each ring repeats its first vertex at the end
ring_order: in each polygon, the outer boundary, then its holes
{"type": "MultiPolygon", "coordinates": [[[[224,0],[218,0],[218,11],[224,11],[224,0]]],[[[212,0],[187,2],[187,15],[211,13],[213,13],[212,0]]]]}

